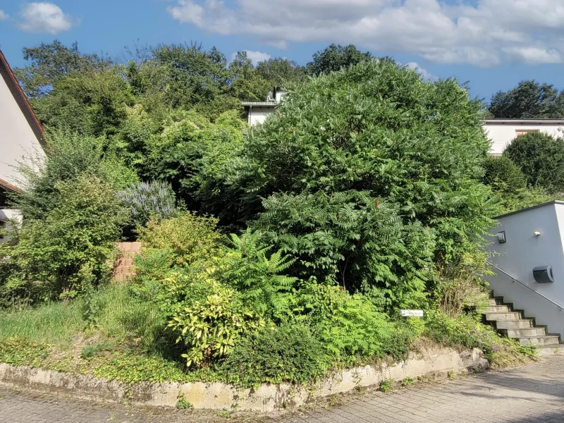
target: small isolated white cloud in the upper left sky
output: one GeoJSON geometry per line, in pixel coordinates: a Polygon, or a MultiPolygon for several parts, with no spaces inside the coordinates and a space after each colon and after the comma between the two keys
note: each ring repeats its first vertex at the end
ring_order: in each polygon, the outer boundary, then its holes
{"type": "Polygon", "coordinates": [[[21,30],[47,34],[68,31],[78,23],[56,4],[46,2],[26,4],[21,11],[21,18],[21,30]]]}

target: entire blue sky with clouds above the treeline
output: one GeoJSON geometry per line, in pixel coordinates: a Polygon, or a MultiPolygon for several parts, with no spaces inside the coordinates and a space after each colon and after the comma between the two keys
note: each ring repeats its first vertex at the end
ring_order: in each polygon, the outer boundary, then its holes
{"type": "Polygon", "coordinates": [[[563,0],[0,0],[0,48],[59,39],[125,55],[136,43],[202,42],[229,58],[300,64],[331,42],[410,63],[429,78],[469,81],[489,99],[524,79],[564,88],[563,0]]]}

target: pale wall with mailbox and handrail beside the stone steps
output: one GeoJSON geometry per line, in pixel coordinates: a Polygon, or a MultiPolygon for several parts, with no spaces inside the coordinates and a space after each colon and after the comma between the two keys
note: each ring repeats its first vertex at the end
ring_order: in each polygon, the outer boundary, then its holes
{"type": "MultiPolygon", "coordinates": [[[[496,253],[491,262],[517,280],[525,283],[554,302],[564,305],[564,204],[546,204],[534,209],[502,216],[492,230],[505,231],[505,243],[493,238],[489,249],[496,253]],[[540,235],[534,235],[539,232],[540,235]],[[553,283],[537,283],[532,269],[550,264],[553,283]]],[[[496,295],[525,310],[526,317],[535,317],[537,324],[548,326],[548,332],[564,336],[564,310],[532,292],[497,269],[496,276],[486,277],[496,295]]]]}

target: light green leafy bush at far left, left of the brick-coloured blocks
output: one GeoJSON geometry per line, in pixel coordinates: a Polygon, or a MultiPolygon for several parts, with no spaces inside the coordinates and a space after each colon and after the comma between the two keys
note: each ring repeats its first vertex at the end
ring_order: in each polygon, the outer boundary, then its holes
{"type": "Polygon", "coordinates": [[[1,281],[4,297],[73,296],[109,276],[114,243],[127,220],[116,191],[86,173],[59,181],[54,190],[42,219],[25,219],[0,247],[13,269],[1,281]]]}

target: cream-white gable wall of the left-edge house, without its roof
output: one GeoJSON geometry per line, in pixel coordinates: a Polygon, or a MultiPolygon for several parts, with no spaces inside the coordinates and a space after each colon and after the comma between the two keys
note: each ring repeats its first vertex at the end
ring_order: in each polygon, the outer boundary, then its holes
{"type": "MultiPolygon", "coordinates": [[[[44,157],[43,149],[0,76],[0,178],[18,186],[18,173],[13,166],[23,157],[44,157]]],[[[32,164],[31,161],[27,163],[32,164]]]]}

